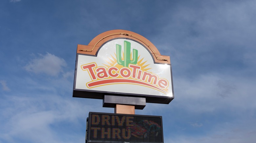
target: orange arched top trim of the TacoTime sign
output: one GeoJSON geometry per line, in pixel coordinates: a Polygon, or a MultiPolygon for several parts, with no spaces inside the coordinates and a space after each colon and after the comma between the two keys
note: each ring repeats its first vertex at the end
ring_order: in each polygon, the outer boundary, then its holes
{"type": "Polygon", "coordinates": [[[170,56],[162,56],[156,46],[145,37],[127,30],[110,30],[96,36],[88,45],[77,45],[77,53],[96,56],[99,47],[106,41],[116,38],[127,38],[138,41],[150,51],[155,63],[170,63],[170,56]]]}

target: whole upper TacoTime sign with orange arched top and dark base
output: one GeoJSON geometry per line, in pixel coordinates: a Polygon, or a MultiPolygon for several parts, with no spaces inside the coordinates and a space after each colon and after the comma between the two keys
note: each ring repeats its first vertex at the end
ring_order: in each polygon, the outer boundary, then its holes
{"type": "Polygon", "coordinates": [[[103,99],[105,94],[170,103],[174,98],[170,57],[126,30],[107,31],[89,45],[78,45],[73,97],[103,99]]]}

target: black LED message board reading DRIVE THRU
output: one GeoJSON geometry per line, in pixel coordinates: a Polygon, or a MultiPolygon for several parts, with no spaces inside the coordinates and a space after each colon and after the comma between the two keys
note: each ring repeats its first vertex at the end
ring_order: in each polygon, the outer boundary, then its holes
{"type": "Polygon", "coordinates": [[[89,112],[88,143],[163,143],[162,116],[89,112]]]}

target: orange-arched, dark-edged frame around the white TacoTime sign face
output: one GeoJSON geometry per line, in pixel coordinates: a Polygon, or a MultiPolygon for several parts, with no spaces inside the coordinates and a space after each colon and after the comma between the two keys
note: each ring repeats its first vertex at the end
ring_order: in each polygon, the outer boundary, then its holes
{"type": "Polygon", "coordinates": [[[88,45],[77,45],[76,53],[76,64],[75,64],[75,78],[73,87],[73,97],[79,98],[92,98],[92,99],[104,99],[104,95],[114,95],[114,96],[132,96],[132,97],[145,97],[147,103],[163,103],[169,104],[174,99],[173,91],[173,78],[172,78],[172,66],[170,63],[169,56],[160,55],[158,49],[143,36],[127,31],[127,30],[111,30],[96,36],[88,45]],[[172,87],[172,97],[169,96],[159,96],[159,95],[148,95],[148,94],[137,94],[137,93],[125,93],[125,92],[115,92],[115,91],[101,91],[101,90],[87,90],[87,89],[77,89],[76,88],[76,78],[77,78],[77,68],[78,68],[78,56],[94,56],[96,57],[101,47],[111,41],[116,39],[127,39],[132,40],[140,45],[142,45],[152,56],[154,64],[165,64],[170,66],[171,74],[171,87],[172,87]]]}

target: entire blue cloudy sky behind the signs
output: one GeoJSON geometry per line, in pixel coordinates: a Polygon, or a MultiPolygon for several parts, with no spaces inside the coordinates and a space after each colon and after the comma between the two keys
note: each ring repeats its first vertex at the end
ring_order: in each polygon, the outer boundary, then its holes
{"type": "Polygon", "coordinates": [[[165,143],[256,140],[255,0],[1,0],[0,142],[84,142],[102,100],[73,98],[77,44],[123,29],[170,56],[175,99],[165,143]]]}

